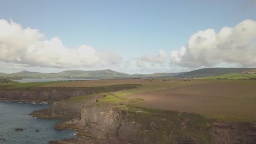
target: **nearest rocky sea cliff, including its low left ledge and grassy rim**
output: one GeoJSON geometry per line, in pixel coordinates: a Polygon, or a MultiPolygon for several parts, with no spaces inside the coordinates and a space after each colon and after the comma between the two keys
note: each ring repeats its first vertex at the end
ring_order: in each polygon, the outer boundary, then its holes
{"type": "Polygon", "coordinates": [[[256,126],[245,122],[224,122],[207,119],[195,113],[146,109],[132,105],[101,104],[104,95],[86,101],[59,101],[46,115],[65,117],[70,121],[55,125],[55,129],[78,131],[78,138],[50,143],[256,143],[256,126]],[[86,139],[85,139],[86,138],[86,139]]]}

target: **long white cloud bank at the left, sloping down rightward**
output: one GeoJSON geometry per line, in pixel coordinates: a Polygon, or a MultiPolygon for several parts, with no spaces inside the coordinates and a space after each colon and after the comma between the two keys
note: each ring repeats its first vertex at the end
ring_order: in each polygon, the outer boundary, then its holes
{"type": "Polygon", "coordinates": [[[44,40],[38,29],[0,20],[0,61],[39,67],[94,67],[118,65],[122,57],[114,52],[98,52],[82,45],[68,49],[57,38],[44,40]]]}

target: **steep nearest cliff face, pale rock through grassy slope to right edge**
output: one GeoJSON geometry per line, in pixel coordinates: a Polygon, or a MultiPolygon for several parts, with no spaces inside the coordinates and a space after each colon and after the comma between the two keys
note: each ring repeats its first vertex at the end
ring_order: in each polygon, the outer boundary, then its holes
{"type": "Polygon", "coordinates": [[[202,119],[196,114],[152,115],[111,106],[85,106],[80,112],[80,118],[59,123],[55,128],[77,130],[79,136],[90,140],[122,143],[256,143],[256,126],[251,123],[198,122],[202,119]]]}

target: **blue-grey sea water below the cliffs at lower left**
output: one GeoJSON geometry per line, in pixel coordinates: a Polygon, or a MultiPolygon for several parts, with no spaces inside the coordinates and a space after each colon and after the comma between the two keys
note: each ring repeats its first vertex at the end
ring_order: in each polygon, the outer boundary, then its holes
{"type": "Polygon", "coordinates": [[[0,140],[1,144],[46,143],[76,137],[74,131],[53,129],[53,125],[63,119],[39,119],[28,116],[34,110],[49,107],[49,104],[25,104],[0,101],[0,140]],[[15,131],[23,128],[24,131],[15,131]],[[39,129],[36,132],[35,129],[39,129]]]}

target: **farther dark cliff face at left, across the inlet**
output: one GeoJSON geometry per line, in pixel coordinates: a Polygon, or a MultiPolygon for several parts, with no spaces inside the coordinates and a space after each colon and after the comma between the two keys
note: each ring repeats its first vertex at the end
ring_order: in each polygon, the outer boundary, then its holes
{"type": "Polygon", "coordinates": [[[0,89],[0,100],[50,102],[66,100],[79,95],[116,92],[136,88],[139,85],[113,85],[105,87],[30,87],[0,89]]]}

